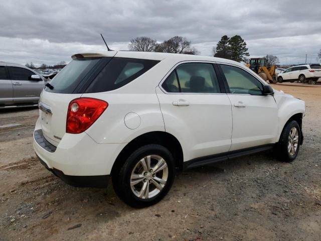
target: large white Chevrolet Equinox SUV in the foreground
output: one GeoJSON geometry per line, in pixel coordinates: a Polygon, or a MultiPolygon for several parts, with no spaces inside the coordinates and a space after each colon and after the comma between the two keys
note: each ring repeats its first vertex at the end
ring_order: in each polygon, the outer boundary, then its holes
{"type": "Polygon", "coordinates": [[[47,84],[34,149],[74,186],[105,187],[134,207],[170,190],[176,171],[274,149],[296,158],[304,101],[240,63],[184,54],[83,53],[47,84]]]}

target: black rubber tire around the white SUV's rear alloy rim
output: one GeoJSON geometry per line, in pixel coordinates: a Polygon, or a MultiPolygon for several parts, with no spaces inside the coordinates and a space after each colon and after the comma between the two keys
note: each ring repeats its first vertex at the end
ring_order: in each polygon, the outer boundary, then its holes
{"type": "MultiPolygon", "coordinates": [[[[152,160],[152,158],[150,160],[151,160],[150,163],[155,161],[155,160],[152,160]]],[[[150,164],[150,167],[151,167],[151,164],[150,164]]],[[[143,171],[143,169],[141,170],[143,171]]],[[[164,171],[163,170],[159,171],[158,174],[161,172],[163,173],[164,171]]],[[[175,162],[174,162],[172,153],[164,146],[150,144],[150,145],[142,146],[141,148],[137,149],[126,159],[123,166],[121,166],[118,170],[116,170],[113,173],[112,184],[116,194],[119,196],[119,198],[123,202],[125,202],[129,206],[132,206],[135,208],[141,208],[141,207],[147,207],[147,206],[153,205],[161,201],[162,198],[171,189],[174,178],[175,178],[175,162]],[[167,176],[167,181],[165,186],[161,191],[159,191],[158,194],[156,194],[151,198],[143,199],[143,198],[139,198],[134,194],[134,191],[132,190],[132,187],[130,185],[130,180],[131,180],[132,172],[135,169],[136,165],[138,165],[138,162],[144,157],[147,157],[150,155],[158,156],[164,159],[168,167],[168,172],[167,172],[168,176],[167,176]]],[[[144,180],[140,182],[141,188],[143,187],[145,182],[149,183],[149,184],[147,183],[148,187],[149,185],[151,185],[150,187],[154,187],[154,190],[156,190],[156,186],[154,186],[154,184],[152,184],[151,181],[146,180],[146,178],[144,178],[144,180]]],[[[149,189],[149,190],[152,190],[152,189],[149,189]]],[[[158,189],[156,191],[158,191],[158,189]]]]}

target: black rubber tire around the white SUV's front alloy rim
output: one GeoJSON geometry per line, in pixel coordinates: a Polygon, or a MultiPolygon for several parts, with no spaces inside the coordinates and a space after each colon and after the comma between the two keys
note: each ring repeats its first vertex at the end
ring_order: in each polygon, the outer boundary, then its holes
{"type": "Polygon", "coordinates": [[[296,158],[296,156],[299,152],[300,142],[301,142],[301,131],[300,131],[299,124],[296,121],[288,122],[285,125],[285,127],[283,128],[283,131],[280,136],[280,140],[274,148],[274,152],[275,152],[276,157],[282,162],[292,162],[296,158]],[[290,132],[293,128],[296,128],[297,134],[298,134],[297,147],[296,147],[295,152],[293,154],[290,154],[290,152],[288,150],[289,135],[290,135],[290,132]]]}

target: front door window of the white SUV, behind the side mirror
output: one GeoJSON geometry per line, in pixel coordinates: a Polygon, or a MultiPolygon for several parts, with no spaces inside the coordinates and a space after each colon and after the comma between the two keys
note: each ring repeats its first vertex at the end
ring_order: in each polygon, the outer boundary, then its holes
{"type": "Polygon", "coordinates": [[[262,83],[245,70],[221,65],[230,92],[233,94],[262,94],[262,83]]]}

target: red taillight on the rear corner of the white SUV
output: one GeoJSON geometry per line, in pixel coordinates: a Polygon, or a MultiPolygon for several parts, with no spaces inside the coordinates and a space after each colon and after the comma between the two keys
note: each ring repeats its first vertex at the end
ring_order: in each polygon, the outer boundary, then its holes
{"type": "Polygon", "coordinates": [[[86,131],[108,107],[106,101],[94,98],[77,98],[68,106],[66,133],[86,131]]]}

